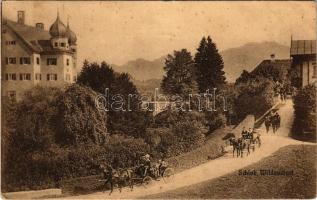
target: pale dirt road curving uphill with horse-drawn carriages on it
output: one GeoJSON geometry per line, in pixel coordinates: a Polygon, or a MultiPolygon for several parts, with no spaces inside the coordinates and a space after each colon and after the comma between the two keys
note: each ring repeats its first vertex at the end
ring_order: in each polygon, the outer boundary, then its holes
{"type": "MultiPolygon", "coordinates": [[[[268,134],[265,131],[265,127],[260,128],[262,146],[256,148],[255,152],[249,156],[243,158],[233,158],[231,152],[225,156],[209,161],[205,164],[197,167],[185,170],[181,173],[175,174],[174,177],[170,178],[167,182],[163,180],[153,183],[147,187],[135,187],[134,191],[129,191],[127,188],[123,189],[122,193],[115,190],[111,196],[108,195],[108,191],[105,193],[98,192],[89,195],[76,196],[76,199],[100,199],[100,198],[138,198],[150,194],[157,194],[174,190],[180,187],[196,184],[206,180],[214,179],[225,175],[227,173],[236,171],[244,168],[247,165],[253,164],[277,151],[283,146],[290,144],[312,144],[297,141],[288,137],[290,128],[293,122],[293,105],[292,101],[288,100],[284,106],[279,110],[281,115],[281,127],[277,133],[273,134],[272,130],[268,134]]],[[[70,197],[74,198],[74,197],[70,197]]]]}

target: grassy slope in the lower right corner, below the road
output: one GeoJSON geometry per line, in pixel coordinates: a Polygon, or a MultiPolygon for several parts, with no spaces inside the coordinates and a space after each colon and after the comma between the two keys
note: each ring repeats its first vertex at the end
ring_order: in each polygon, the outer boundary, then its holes
{"type": "Polygon", "coordinates": [[[236,171],[211,181],[145,198],[314,198],[315,156],[315,145],[290,145],[245,170],[293,170],[292,176],[261,176],[259,173],[257,176],[241,176],[236,171]]]}

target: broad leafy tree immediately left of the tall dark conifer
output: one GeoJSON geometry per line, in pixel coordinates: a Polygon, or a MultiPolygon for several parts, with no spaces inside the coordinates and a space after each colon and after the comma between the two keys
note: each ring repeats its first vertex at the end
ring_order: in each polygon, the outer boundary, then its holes
{"type": "Polygon", "coordinates": [[[174,51],[174,55],[168,55],[165,61],[161,88],[167,95],[188,96],[197,92],[195,81],[194,62],[190,52],[186,49],[174,51]]]}

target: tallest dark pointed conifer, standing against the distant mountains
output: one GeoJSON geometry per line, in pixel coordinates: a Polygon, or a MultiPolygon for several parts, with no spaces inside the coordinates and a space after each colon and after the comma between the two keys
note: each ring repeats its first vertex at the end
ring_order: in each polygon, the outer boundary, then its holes
{"type": "Polygon", "coordinates": [[[225,84],[224,63],[210,36],[207,37],[207,40],[205,37],[202,38],[194,60],[200,92],[220,88],[225,84]]]}

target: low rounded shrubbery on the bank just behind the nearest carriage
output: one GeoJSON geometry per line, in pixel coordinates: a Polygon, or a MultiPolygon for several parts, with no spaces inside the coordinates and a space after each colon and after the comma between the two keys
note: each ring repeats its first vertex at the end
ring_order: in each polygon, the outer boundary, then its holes
{"type": "Polygon", "coordinates": [[[171,157],[202,145],[208,132],[204,113],[166,110],[155,117],[146,141],[159,157],[171,157]]]}

